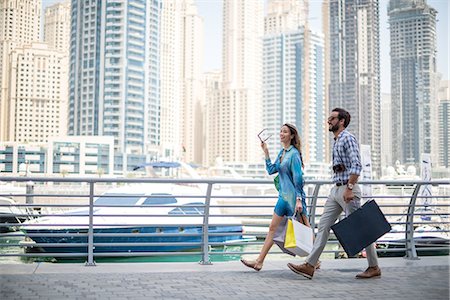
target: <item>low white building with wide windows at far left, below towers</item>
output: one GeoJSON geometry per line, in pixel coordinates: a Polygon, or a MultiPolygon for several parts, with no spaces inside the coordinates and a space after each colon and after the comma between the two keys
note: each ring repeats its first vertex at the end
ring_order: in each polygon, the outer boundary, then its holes
{"type": "Polygon", "coordinates": [[[114,138],[70,136],[46,143],[0,143],[0,174],[112,175],[114,138]]]}

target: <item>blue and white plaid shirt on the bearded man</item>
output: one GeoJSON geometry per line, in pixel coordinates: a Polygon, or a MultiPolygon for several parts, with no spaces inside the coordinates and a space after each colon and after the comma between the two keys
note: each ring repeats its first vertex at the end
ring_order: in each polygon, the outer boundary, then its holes
{"type": "Polygon", "coordinates": [[[359,146],[353,134],[343,130],[335,139],[333,145],[333,166],[345,165],[344,172],[333,172],[333,182],[348,181],[350,175],[361,173],[361,156],[359,155],[359,146]]]}

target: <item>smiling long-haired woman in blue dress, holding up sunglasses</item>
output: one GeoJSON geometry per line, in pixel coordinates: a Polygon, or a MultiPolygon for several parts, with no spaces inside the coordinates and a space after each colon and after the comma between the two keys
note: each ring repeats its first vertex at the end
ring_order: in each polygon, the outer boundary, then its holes
{"type": "Polygon", "coordinates": [[[261,270],[264,259],[273,245],[275,231],[284,216],[292,216],[294,215],[294,212],[298,212],[301,215],[304,224],[310,227],[307,218],[306,195],[303,191],[301,141],[297,128],[291,124],[284,124],[280,129],[280,142],[283,145],[283,149],[280,150],[277,159],[272,164],[267,144],[261,141],[261,148],[264,151],[266,159],[267,172],[270,175],[278,172],[280,189],[269,232],[258,258],[254,261],[241,259],[241,262],[244,265],[256,271],[261,270]]]}

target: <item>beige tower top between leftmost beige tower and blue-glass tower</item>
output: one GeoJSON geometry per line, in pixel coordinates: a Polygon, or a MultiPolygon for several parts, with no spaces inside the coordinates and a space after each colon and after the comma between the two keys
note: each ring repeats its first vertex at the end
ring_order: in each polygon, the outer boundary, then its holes
{"type": "Polygon", "coordinates": [[[56,3],[45,9],[44,42],[51,49],[69,52],[70,47],[70,1],[56,3]]]}

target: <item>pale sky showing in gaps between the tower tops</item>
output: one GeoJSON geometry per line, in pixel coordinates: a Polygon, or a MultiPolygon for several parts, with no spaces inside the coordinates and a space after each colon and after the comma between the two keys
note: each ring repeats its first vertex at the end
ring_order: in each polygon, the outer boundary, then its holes
{"type": "MultiPolygon", "coordinates": [[[[42,0],[47,7],[62,0],[42,0]]],[[[233,0],[227,0],[233,1],[233,0]]],[[[267,1],[267,0],[248,0],[267,1]]],[[[204,20],[205,61],[204,71],[222,68],[222,0],[195,0],[199,15],[204,20]]],[[[381,92],[390,92],[390,57],[389,57],[389,24],[387,17],[388,0],[380,0],[380,62],[381,92]]],[[[437,35],[437,69],[443,79],[450,79],[450,5],[448,0],[427,0],[428,5],[438,11],[437,35]]],[[[322,0],[309,0],[309,21],[312,30],[322,31],[322,0]]]]}

